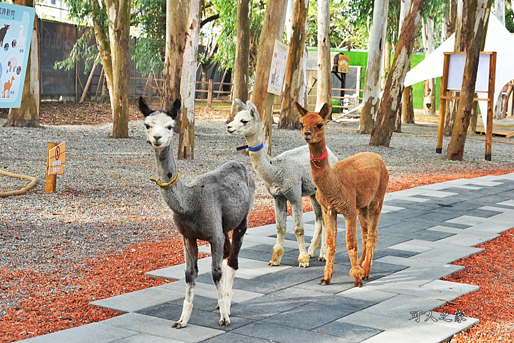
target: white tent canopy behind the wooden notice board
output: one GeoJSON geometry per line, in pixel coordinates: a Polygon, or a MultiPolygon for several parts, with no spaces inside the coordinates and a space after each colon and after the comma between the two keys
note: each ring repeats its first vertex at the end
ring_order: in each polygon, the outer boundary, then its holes
{"type": "MultiPolygon", "coordinates": [[[[414,83],[443,76],[444,52],[453,51],[454,35],[451,35],[443,44],[434,50],[427,58],[412,68],[405,77],[403,85],[410,86],[414,83]]],[[[485,39],[484,51],[496,51],[496,79],[494,83],[493,99],[498,99],[503,86],[510,80],[514,80],[514,36],[503,26],[497,17],[489,16],[489,27],[485,39]]],[[[493,104],[494,105],[494,104],[493,104]]],[[[484,128],[486,127],[487,101],[479,101],[484,128]]]]}

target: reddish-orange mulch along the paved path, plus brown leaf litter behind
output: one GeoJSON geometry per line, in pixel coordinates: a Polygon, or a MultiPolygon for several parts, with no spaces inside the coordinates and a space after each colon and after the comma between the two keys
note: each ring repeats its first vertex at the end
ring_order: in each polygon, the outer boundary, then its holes
{"type": "MultiPolygon", "coordinates": [[[[87,108],[89,105],[85,105],[87,108]]],[[[52,104],[42,106],[42,123],[48,111],[60,113],[52,123],[85,123],[83,111],[66,112],[66,106],[52,104]],[[64,112],[63,112],[64,111],[64,112]],[[62,113],[61,113],[62,112],[62,113]],[[82,113],[82,115],[80,114],[82,113]],[[62,118],[62,119],[59,119],[62,118]],[[76,120],[76,122],[75,122],[76,120]]],[[[223,117],[225,113],[218,113],[223,117]]],[[[110,113],[99,111],[91,106],[87,123],[108,122],[110,113]]],[[[137,107],[131,104],[131,116],[137,116],[137,107]]],[[[135,117],[138,118],[138,117],[135,117]]],[[[140,119],[140,118],[139,118],[140,119]]],[[[471,178],[490,174],[505,174],[514,170],[447,170],[446,174],[410,174],[396,175],[390,180],[388,191],[443,182],[457,178],[471,178]]],[[[304,202],[304,210],[311,210],[308,199],[304,202]]],[[[256,208],[250,214],[250,227],[274,223],[274,210],[271,202],[264,208],[256,208]]],[[[445,280],[476,284],[480,290],[455,300],[456,305],[447,305],[437,311],[453,314],[464,311],[466,316],[480,319],[480,323],[467,333],[455,337],[462,342],[499,342],[514,339],[514,300],[510,295],[513,282],[511,249],[514,246],[514,229],[505,232],[493,241],[480,247],[485,249],[481,254],[460,260],[456,264],[466,268],[445,280]]],[[[70,265],[74,273],[60,275],[59,270],[50,274],[41,274],[35,270],[23,272],[0,269],[4,292],[16,294],[17,287],[7,285],[30,284],[30,294],[17,296],[23,299],[15,309],[6,309],[7,314],[0,317],[0,343],[16,341],[54,331],[69,329],[82,324],[96,322],[116,316],[117,314],[88,306],[88,302],[128,292],[134,292],[166,281],[144,277],[144,272],[183,263],[183,249],[179,237],[171,237],[162,242],[137,244],[127,247],[121,254],[109,252],[99,255],[80,265],[70,265]],[[12,282],[12,283],[11,283],[12,282]],[[67,285],[67,291],[62,285],[67,285]]]]}

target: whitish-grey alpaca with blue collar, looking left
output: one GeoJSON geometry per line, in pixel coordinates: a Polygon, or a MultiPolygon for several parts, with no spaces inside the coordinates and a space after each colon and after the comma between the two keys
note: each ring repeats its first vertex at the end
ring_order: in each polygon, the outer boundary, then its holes
{"type": "MultiPolygon", "coordinates": [[[[227,131],[233,135],[244,136],[250,147],[259,146],[264,141],[261,117],[251,101],[246,104],[235,99],[239,111],[234,120],[227,124],[227,131]]],[[[328,160],[331,164],[338,158],[328,149],[328,160]]],[[[253,168],[264,180],[266,188],[275,203],[275,219],[277,222],[277,243],[269,265],[279,265],[284,255],[284,236],[286,233],[287,201],[291,204],[293,227],[300,249],[298,257],[300,267],[309,265],[309,258],[321,247],[319,260],[326,258],[326,234],[321,206],[316,200],[316,186],[310,173],[310,157],[308,146],[288,150],[271,158],[266,149],[250,151],[253,168]],[[316,216],[315,232],[308,252],[305,249],[302,196],[309,196],[316,216]],[[321,238],[321,245],[320,245],[321,238]]]]}

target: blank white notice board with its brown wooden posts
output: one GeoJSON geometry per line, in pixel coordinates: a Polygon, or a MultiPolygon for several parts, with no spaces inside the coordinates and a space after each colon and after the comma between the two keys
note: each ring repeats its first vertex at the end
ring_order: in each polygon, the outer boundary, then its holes
{"type": "MultiPolygon", "coordinates": [[[[439,103],[439,125],[437,128],[437,145],[435,152],[443,152],[443,134],[445,130],[446,101],[460,99],[448,95],[448,91],[461,92],[466,52],[445,52],[441,94],[439,103]]],[[[479,67],[476,75],[475,92],[487,93],[487,98],[474,98],[474,101],[487,101],[485,159],[491,160],[492,151],[492,109],[494,106],[494,81],[496,76],[496,52],[480,52],[479,67]],[[483,61],[483,62],[482,62],[483,61]]]]}

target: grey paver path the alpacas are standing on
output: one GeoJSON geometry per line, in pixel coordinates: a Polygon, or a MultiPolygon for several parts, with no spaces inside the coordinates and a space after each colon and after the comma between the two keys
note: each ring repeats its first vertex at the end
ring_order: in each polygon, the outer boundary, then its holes
{"type": "MultiPolygon", "coordinates": [[[[478,286],[439,280],[462,270],[451,264],[477,254],[476,248],[514,226],[514,174],[458,179],[386,194],[370,280],[354,288],[350,260],[339,235],[332,284],[318,285],[324,262],[298,267],[292,222],[282,265],[267,261],[274,225],[251,228],[241,250],[229,327],[218,327],[210,258],[198,263],[194,308],[188,327],[172,329],[185,291],[184,266],[146,275],[177,280],[161,286],[91,302],[121,316],[25,341],[36,342],[427,342],[438,343],[467,330],[477,319],[442,318],[433,309],[478,286]]],[[[314,214],[304,213],[305,236],[314,214]]],[[[306,241],[308,240],[306,239],[306,241]]],[[[359,242],[360,244],[360,242],[359,242]]],[[[200,248],[209,252],[208,247],[200,248]]]]}

